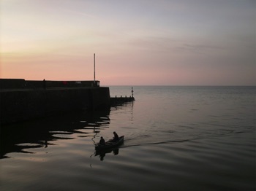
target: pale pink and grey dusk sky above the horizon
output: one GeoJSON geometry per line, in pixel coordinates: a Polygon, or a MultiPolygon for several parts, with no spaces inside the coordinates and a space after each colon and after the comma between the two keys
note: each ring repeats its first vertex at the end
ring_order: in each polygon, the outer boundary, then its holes
{"type": "Polygon", "coordinates": [[[256,85],[255,0],[1,0],[0,78],[256,85]]]}

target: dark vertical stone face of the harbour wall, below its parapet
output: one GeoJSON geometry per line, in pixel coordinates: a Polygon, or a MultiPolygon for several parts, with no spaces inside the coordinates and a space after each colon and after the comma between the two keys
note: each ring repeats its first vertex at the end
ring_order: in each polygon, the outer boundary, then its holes
{"type": "Polygon", "coordinates": [[[59,87],[46,90],[0,91],[1,124],[74,110],[94,111],[109,107],[109,87],[59,87]]]}

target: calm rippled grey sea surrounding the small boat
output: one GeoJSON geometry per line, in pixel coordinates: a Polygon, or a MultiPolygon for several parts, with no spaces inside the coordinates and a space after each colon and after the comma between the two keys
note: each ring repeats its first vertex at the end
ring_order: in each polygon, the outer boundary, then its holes
{"type": "Polygon", "coordinates": [[[256,87],[133,90],[109,111],[1,127],[0,190],[256,189],[256,87]],[[96,153],[113,131],[124,145],[96,153]]]}

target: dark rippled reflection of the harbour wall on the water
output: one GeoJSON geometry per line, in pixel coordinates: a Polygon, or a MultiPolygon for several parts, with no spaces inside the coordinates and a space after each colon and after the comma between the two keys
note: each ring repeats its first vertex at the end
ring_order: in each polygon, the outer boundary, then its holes
{"type": "Polygon", "coordinates": [[[22,152],[33,148],[49,147],[60,139],[79,137],[94,139],[102,128],[109,128],[110,110],[94,113],[74,113],[54,116],[42,120],[22,122],[1,126],[0,158],[8,157],[8,153],[22,152]]]}

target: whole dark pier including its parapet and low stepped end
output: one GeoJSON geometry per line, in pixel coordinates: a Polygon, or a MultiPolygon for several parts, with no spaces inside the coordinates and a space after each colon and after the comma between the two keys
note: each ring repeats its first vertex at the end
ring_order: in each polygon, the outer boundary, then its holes
{"type": "Polygon", "coordinates": [[[99,81],[0,79],[0,124],[33,120],[74,111],[99,111],[126,102],[132,96],[110,98],[99,81]]]}

